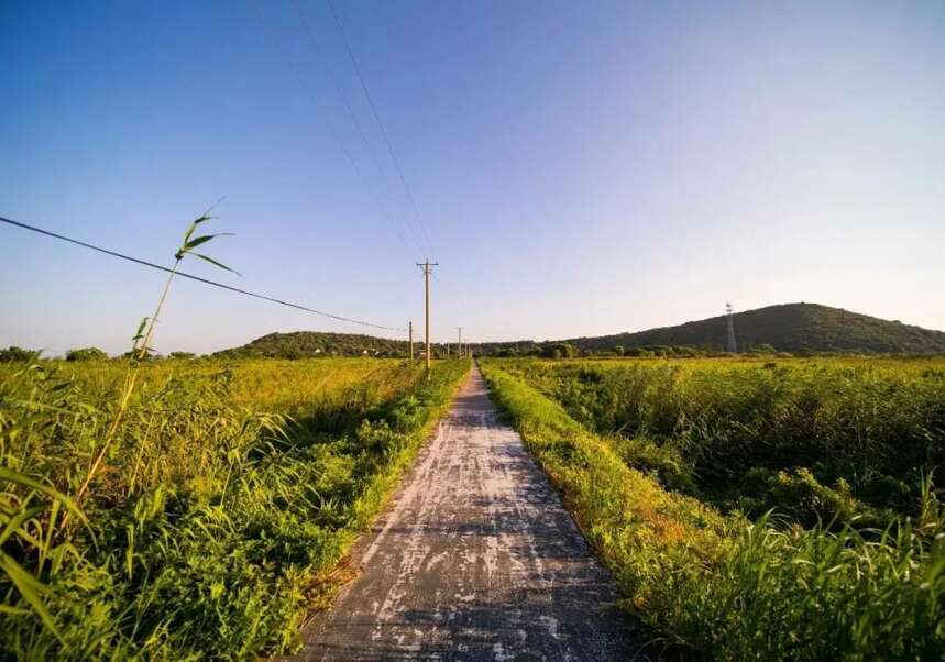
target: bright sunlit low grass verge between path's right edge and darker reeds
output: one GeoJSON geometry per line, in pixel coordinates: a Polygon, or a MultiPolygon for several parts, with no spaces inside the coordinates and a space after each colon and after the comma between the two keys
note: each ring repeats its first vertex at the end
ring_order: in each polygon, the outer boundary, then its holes
{"type": "Polygon", "coordinates": [[[644,462],[629,465],[619,438],[589,430],[523,379],[553,393],[542,373],[554,364],[481,364],[628,609],[666,650],[717,660],[945,654],[945,517],[927,482],[915,516],[882,531],[724,516],[667,489],[644,462]]]}

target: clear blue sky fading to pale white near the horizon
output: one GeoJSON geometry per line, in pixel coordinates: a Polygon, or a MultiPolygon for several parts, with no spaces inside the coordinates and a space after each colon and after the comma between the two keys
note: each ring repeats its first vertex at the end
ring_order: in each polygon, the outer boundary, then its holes
{"type": "MultiPolygon", "coordinates": [[[[429,253],[435,340],[726,300],[945,329],[945,3],[336,7],[429,242],[325,0],[0,2],[0,216],[169,264],[226,196],[207,253],[242,277],[187,271],[398,327],[429,253]]],[[[163,282],[0,247],[0,346],[122,351],[163,282]]],[[[289,330],[360,331],[178,282],[155,346],[289,330]]]]}

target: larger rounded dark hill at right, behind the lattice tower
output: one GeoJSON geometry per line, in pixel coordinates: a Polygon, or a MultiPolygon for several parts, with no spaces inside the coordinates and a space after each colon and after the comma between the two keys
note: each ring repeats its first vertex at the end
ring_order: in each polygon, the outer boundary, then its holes
{"type": "MultiPolygon", "coordinates": [[[[567,342],[581,351],[609,351],[618,345],[722,350],[725,334],[725,316],[718,316],[677,327],[567,342]]],[[[945,332],[818,304],[783,304],[738,312],[735,335],[739,350],[770,345],[781,352],[945,353],[945,332]]]]}

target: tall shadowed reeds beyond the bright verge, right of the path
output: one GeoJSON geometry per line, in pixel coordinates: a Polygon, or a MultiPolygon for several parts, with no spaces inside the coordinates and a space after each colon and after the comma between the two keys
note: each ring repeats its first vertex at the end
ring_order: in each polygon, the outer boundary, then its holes
{"type": "Polygon", "coordinates": [[[625,460],[724,508],[884,526],[945,464],[941,361],[518,361],[625,460]]]}

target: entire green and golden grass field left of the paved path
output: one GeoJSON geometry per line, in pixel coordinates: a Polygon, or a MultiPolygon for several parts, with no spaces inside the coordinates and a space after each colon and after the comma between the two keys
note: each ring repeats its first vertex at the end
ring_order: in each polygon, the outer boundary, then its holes
{"type": "Polygon", "coordinates": [[[3,657],[290,650],[468,367],[144,362],[117,418],[124,362],[0,365],[3,657]]]}

